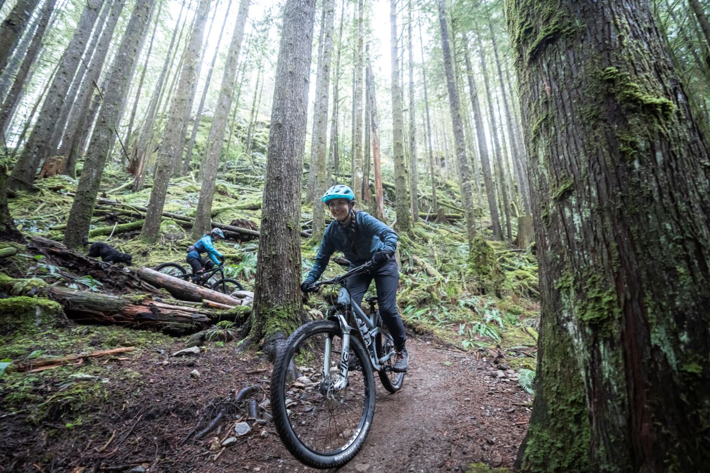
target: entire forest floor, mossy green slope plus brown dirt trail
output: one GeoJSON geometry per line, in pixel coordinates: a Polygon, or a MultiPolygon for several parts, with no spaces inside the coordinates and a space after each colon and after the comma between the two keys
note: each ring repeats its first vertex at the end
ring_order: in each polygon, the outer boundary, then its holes
{"type": "MultiPolygon", "coordinates": [[[[129,208],[146,205],[150,189],[111,191],[126,182],[122,172],[104,181],[107,197],[129,208]]],[[[71,207],[76,180],[53,177],[37,185],[38,191],[18,192],[9,199],[13,218],[27,236],[61,240],[60,224],[71,207]]],[[[220,180],[218,187],[214,221],[258,223],[261,189],[256,184],[220,180]]],[[[452,199],[454,188],[450,183],[445,188],[452,199]]],[[[166,210],[192,215],[199,191],[192,175],[177,179],[166,210]]],[[[301,217],[304,222],[312,218],[307,207],[301,217]]],[[[91,238],[129,252],[134,269],[183,262],[185,248],[194,243],[187,228],[166,218],[157,243],[141,241],[137,229],[114,235],[116,223],[135,218],[115,206],[99,206],[92,225],[110,235],[91,238]]],[[[486,218],[480,219],[479,230],[490,233],[486,218]]],[[[540,306],[535,255],[530,247],[491,242],[505,279],[499,293],[481,294],[466,269],[468,247],[460,221],[418,223],[400,240],[398,305],[410,337],[411,369],[396,394],[388,394],[376,381],[371,432],[359,454],[339,471],[508,471],[532,405],[532,394],[525,389],[530,391],[536,363],[540,306]],[[432,268],[438,277],[429,274],[432,268]]],[[[303,240],[304,272],[312,265],[316,246],[312,239],[303,240]]],[[[226,240],[218,247],[226,255],[228,277],[253,289],[256,242],[226,240]]],[[[332,264],[324,277],[343,271],[332,264]]],[[[81,269],[72,273],[23,249],[0,260],[1,273],[40,278],[47,284],[78,284],[82,291],[109,292],[114,286],[108,276],[94,272],[95,278],[89,277],[81,269]]],[[[129,291],[114,290],[114,295],[140,296],[123,292],[129,291]]],[[[234,436],[234,425],[248,421],[242,405],[205,439],[189,438],[214,418],[218,406],[235,404],[240,389],[261,386],[254,397],[266,399],[271,363],[260,352],[236,353],[236,342],[212,341],[197,355],[173,357],[185,348],[187,335],[173,338],[119,326],[61,323],[55,313],[49,323],[40,323],[37,301],[48,301],[29,287],[23,294],[33,297],[0,293],[0,302],[19,304],[14,312],[0,311],[0,472],[315,471],[290,455],[271,423],[249,421],[250,433],[222,447],[234,436]],[[28,360],[116,347],[135,350],[43,371],[12,369],[14,363],[28,360]],[[191,374],[194,370],[199,375],[191,374]]],[[[326,306],[321,294],[311,296],[305,309],[315,318],[326,306]]]]}

